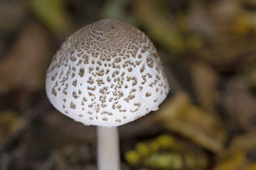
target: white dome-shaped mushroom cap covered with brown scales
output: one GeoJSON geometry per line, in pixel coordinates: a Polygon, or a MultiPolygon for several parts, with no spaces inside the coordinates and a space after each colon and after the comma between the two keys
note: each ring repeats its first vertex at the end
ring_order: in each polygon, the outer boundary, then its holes
{"type": "Polygon", "coordinates": [[[69,36],[46,73],[51,103],[86,125],[136,120],[158,110],[168,91],[148,36],[117,19],[102,19],[69,36]]]}

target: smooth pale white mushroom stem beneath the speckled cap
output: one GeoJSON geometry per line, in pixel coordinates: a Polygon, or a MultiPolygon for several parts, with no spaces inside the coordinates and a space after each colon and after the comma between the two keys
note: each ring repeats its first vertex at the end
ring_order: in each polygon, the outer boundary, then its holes
{"type": "Polygon", "coordinates": [[[97,126],[97,135],[98,170],[120,170],[118,128],[97,126]]]}

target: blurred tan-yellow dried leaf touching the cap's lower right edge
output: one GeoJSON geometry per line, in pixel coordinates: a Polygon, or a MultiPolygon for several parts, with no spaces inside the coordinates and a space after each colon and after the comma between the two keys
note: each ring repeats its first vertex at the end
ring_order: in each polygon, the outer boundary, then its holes
{"type": "Polygon", "coordinates": [[[222,151],[225,131],[220,120],[191,103],[185,92],[168,99],[156,114],[162,125],[218,153],[222,151]]]}

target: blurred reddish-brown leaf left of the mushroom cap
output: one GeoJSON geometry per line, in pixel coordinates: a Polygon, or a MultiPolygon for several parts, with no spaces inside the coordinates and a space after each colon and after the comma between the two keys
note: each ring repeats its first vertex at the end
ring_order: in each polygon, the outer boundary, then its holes
{"type": "Polygon", "coordinates": [[[14,87],[42,89],[50,49],[44,29],[35,23],[28,24],[9,53],[0,60],[0,91],[14,87]]]}

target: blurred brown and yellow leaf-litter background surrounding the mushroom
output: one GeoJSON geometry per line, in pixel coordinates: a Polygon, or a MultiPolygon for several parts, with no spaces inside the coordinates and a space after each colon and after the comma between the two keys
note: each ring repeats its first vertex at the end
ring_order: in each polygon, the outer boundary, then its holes
{"type": "Polygon", "coordinates": [[[255,0],[0,0],[0,169],[96,170],[96,129],[44,92],[75,30],[113,17],[145,32],[170,93],[119,128],[129,169],[256,169],[255,0]]]}

